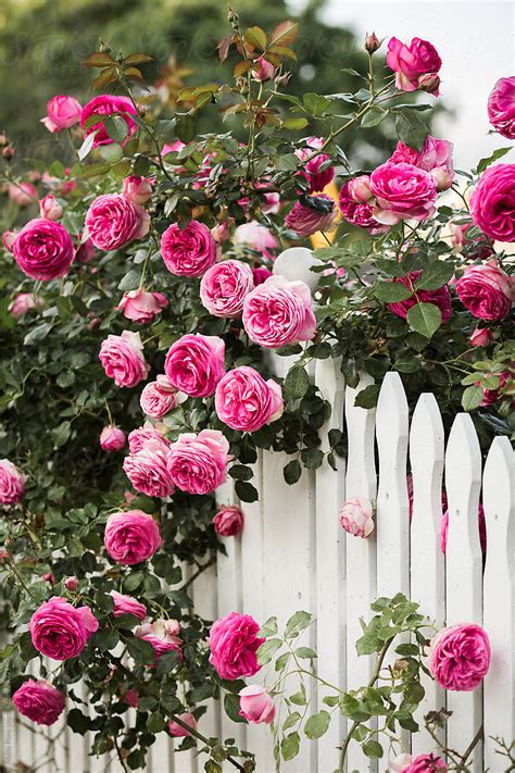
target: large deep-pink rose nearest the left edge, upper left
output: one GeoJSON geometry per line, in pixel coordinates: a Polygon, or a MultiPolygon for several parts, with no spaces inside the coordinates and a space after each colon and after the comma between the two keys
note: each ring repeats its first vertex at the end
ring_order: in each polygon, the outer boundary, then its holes
{"type": "Polygon", "coordinates": [[[68,273],[74,246],[61,223],[36,217],[17,234],[13,255],[24,274],[32,279],[49,282],[68,273]]]}

